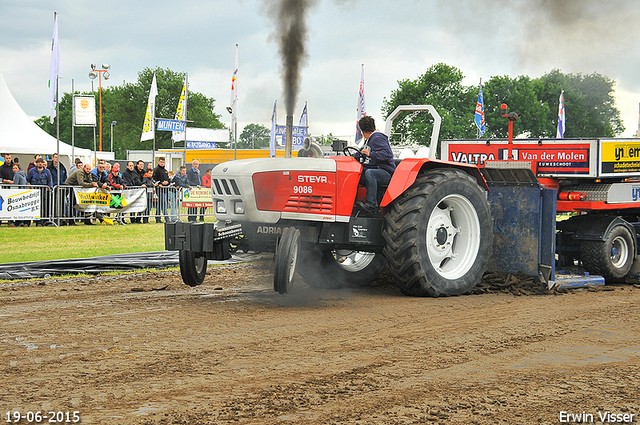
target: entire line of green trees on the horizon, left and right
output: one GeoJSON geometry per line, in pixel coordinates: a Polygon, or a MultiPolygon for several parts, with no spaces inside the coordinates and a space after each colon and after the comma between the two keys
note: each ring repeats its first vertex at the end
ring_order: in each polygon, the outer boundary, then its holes
{"type": "MultiPolygon", "coordinates": [[[[146,112],[149,89],[154,72],[158,83],[156,116],[173,118],[184,84],[185,74],[169,69],[145,68],[135,83],[123,83],[102,89],[103,150],[109,149],[111,122],[114,130],[116,158],[124,159],[128,149],[150,150],[152,141],[140,142],[142,122],[146,112]],[[106,141],[106,143],[105,143],[106,141]]],[[[477,137],[474,123],[478,86],[462,84],[464,74],[456,67],[438,63],[414,80],[398,81],[398,88],[384,98],[382,116],[386,117],[398,105],[433,105],[440,116],[441,139],[472,139],[477,137]]],[[[615,106],[615,81],[593,74],[563,74],[559,70],[539,78],[519,76],[491,77],[482,85],[486,132],[483,138],[507,137],[507,122],[500,106],[521,114],[514,123],[514,136],[533,138],[555,137],[558,123],[558,104],[562,90],[566,109],[565,138],[616,137],[624,131],[620,111],[615,106]]],[[[60,104],[60,138],[71,141],[72,95],[64,93],[60,104]]],[[[96,108],[98,107],[96,100],[96,108]]],[[[215,99],[201,93],[189,92],[188,119],[190,127],[225,128],[220,115],[214,112],[215,99]]],[[[55,123],[43,116],[36,123],[55,136],[55,123]]],[[[427,112],[403,113],[392,128],[394,143],[428,145],[433,120],[427,112]],[[397,137],[401,135],[401,137],[397,137]]],[[[97,131],[97,129],[96,129],[97,131]]],[[[238,148],[269,146],[270,130],[260,124],[249,124],[238,139],[238,148]]],[[[99,136],[96,136],[98,139],[99,136]]],[[[331,143],[333,137],[314,137],[331,143]]],[[[93,149],[93,128],[76,127],[76,146],[93,149]]],[[[156,148],[171,148],[171,132],[156,132],[156,148]]]]}

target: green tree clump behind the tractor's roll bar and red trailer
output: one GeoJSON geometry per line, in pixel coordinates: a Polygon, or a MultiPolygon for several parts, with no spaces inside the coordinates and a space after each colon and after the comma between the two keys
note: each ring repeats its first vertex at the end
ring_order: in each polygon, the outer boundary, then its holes
{"type": "MultiPolygon", "coordinates": [[[[415,80],[400,80],[398,88],[383,101],[383,116],[386,118],[399,105],[433,105],[442,117],[441,139],[476,138],[474,114],[479,86],[465,86],[463,79],[462,71],[439,63],[415,80]]],[[[491,77],[482,85],[486,123],[482,137],[507,137],[507,121],[500,110],[503,103],[509,111],[521,114],[514,123],[514,136],[555,137],[562,90],[565,138],[619,136],[624,126],[615,107],[614,86],[615,81],[598,73],[563,74],[559,70],[533,79],[491,77]]],[[[405,112],[396,119],[392,133],[402,135],[405,143],[428,144],[432,128],[428,112],[405,112]]]]}

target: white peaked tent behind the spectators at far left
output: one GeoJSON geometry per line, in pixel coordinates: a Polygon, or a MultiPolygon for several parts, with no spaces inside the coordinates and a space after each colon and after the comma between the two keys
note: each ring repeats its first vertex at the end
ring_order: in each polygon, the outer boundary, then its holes
{"type": "MultiPolygon", "coordinates": [[[[43,102],[46,100],[45,92],[43,102]]],[[[56,151],[56,138],[38,127],[27,116],[0,74],[0,153],[10,153],[14,158],[20,158],[20,165],[26,169],[27,164],[33,161],[33,155],[39,153],[46,157],[56,151]]],[[[71,157],[71,145],[60,141],[58,155],[60,162],[68,169],[74,160],[71,157]]],[[[91,161],[93,151],[76,147],[73,149],[73,155],[86,164],[91,161]]]]}

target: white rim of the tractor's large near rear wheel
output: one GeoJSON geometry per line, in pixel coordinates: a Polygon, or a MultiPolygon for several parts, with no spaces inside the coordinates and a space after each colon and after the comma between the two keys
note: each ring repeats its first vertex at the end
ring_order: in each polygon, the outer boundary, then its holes
{"type": "Polygon", "coordinates": [[[427,253],[435,271],[458,279],[473,266],[480,248],[480,220],[473,204],[454,194],[442,198],[427,225],[427,253]]]}

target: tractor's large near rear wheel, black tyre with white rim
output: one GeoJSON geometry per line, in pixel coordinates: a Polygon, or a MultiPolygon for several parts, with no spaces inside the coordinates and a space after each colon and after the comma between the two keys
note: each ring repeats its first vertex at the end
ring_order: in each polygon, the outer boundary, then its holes
{"type": "Polygon", "coordinates": [[[430,171],[391,204],[383,236],[383,253],[402,292],[464,294],[480,281],[491,255],[486,193],[463,171],[430,171]]]}

